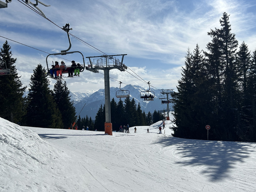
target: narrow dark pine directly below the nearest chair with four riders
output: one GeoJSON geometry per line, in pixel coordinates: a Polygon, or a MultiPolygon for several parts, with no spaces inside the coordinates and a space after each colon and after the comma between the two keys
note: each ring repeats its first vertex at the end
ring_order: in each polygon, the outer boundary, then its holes
{"type": "Polygon", "coordinates": [[[64,83],[57,81],[53,91],[54,100],[62,115],[64,129],[67,129],[76,119],[76,110],[73,106],[73,101],[70,99],[70,91],[67,88],[66,81],[64,83]]]}

